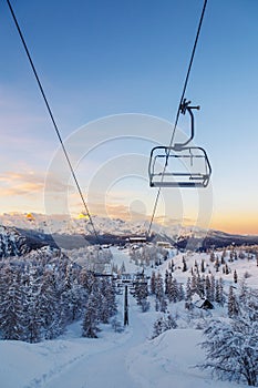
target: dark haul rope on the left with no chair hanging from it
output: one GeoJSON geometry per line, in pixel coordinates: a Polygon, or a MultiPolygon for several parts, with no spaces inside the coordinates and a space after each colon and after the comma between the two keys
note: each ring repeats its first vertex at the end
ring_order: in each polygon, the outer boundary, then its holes
{"type": "Polygon", "coordinates": [[[85,208],[86,215],[89,216],[89,221],[90,221],[90,223],[91,223],[91,225],[92,225],[93,233],[94,233],[94,235],[95,235],[95,237],[96,237],[96,239],[97,239],[97,243],[100,244],[100,237],[99,237],[99,235],[97,235],[97,233],[96,233],[96,228],[95,228],[95,226],[94,226],[92,216],[91,216],[91,214],[90,214],[89,207],[87,207],[86,202],[85,202],[85,200],[84,200],[84,196],[83,196],[83,194],[82,194],[81,186],[80,186],[79,181],[78,181],[78,178],[76,178],[75,171],[74,171],[74,169],[73,169],[73,166],[72,166],[72,163],[71,163],[71,161],[70,161],[68,151],[66,151],[66,149],[65,149],[65,146],[64,146],[64,143],[63,143],[63,141],[62,141],[62,136],[61,136],[61,134],[60,134],[58,124],[56,124],[56,122],[55,122],[55,120],[54,120],[53,112],[52,112],[52,110],[51,110],[51,108],[50,108],[50,104],[49,104],[49,102],[48,102],[48,99],[47,99],[47,95],[45,95],[45,93],[44,93],[42,83],[41,83],[40,78],[39,78],[39,75],[38,75],[38,72],[37,72],[37,70],[35,70],[34,63],[33,63],[33,61],[32,61],[30,51],[29,51],[29,49],[28,49],[28,45],[27,45],[25,40],[24,40],[24,38],[23,38],[23,34],[22,34],[22,32],[21,32],[21,29],[20,29],[20,25],[19,25],[19,23],[18,23],[17,17],[16,17],[16,14],[14,14],[13,8],[12,8],[12,6],[11,6],[11,3],[10,3],[9,0],[7,0],[7,3],[8,3],[8,7],[9,7],[9,9],[10,9],[10,11],[11,11],[13,21],[14,21],[14,23],[16,23],[18,33],[19,33],[20,39],[21,39],[21,41],[22,41],[22,44],[23,44],[23,48],[24,48],[24,50],[25,50],[27,57],[28,57],[28,59],[29,59],[31,69],[32,69],[32,71],[33,71],[33,74],[34,74],[34,76],[35,76],[35,80],[37,80],[38,86],[39,86],[39,89],[40,89],[41,95],[42,95],[42,98],[43,98],[43,100],[44,100],[44,103],[45,103],[48,113],[49,113],[49,115],[50,115],[50,119],[51,119],[51,121],[52,121],[54,131],[55,131],[55,133],[56,133],[56,136],[58,136],[58,139],[59,139],[60,144],[61,144],[61,147],[62,147],[62,150],[63,150],[64,156],[65,156],[65,159],[66,159],[66,161],[68,161],[69,169],[70,169],[71,174],[72,174],[72,177],[73,177],[73,180],[74,180],[74,182],[75,182],[75,185],[76,185],[79,195],[80,195],[80,197],[81,197],[81,200],[82,200],[82,203],[83,203],[83,206],[84,206],[84,208],[85,208]]]}

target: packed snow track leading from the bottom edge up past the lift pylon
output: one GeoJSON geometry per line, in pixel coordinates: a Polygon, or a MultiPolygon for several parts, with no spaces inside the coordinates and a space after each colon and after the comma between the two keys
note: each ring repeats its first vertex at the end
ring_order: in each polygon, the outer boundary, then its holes
{"type": "MultiPolygon", "coordinates": [[[[131,303],[134,304],[132,298],[131,303]]],[[[134,308],[137,307],[134,306],[134,308]]],[[[100,388],[103,384],[105,388],[142,387],[137,381],[138,378],[135,379],[137,375],[134,376],[131,361],[131,354],[135,353],[134,348],[140,343],[144,343],[147,336],[147,328],[143,325],[138,314],[132,314],[131,326],[124,334],[117,334],[111,341],[107,341],[105,348],[101,345],[97,350],[99,341],[102,339],[92,339],[91,341],[95,341],[95,351],[91,354],[85,351],[84,355],[50,370],[47,376],[43,375],[40,379],[32,381],[28,388],[100,388]]],[[[87,344],[85,344],[86,347],[87,344]]]]}

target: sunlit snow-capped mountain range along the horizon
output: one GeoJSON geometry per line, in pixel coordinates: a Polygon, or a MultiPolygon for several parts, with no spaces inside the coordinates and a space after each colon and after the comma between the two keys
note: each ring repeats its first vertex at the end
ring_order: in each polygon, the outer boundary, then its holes
{"type": "MultiPolygon", "coordinates": [[[[128,236],[145,236],[148,221],[124,221],[101,216],[92,217],[101,243],[123,243],[128,236]]],[[[16,227],[20,234],[29,238],[34,246],[58,245],[70,248],[97,243],[92,225],[86,216],[43,214],[2,214],[0,225],[16,227]]],[[[233,235],[219,231],[204,229],[197,226],[153,224],[152,241],[168,241],[179,248],[206,249],[211,246],[257,244],[258,236],[233,235]]],[[[11,243],[10,243],[11,244],[11,243]]],[[[9,245],[10,245],[9,244],[9,245]]],[[[14,251],[13,251],[14,252],[14,251]]]]}

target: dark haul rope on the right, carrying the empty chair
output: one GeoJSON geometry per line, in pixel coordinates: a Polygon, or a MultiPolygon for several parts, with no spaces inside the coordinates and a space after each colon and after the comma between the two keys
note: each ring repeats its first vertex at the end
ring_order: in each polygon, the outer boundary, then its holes
{"type": "MultiPolygon", "coordinates": [[[[208,0],[204,0],[203,10],[202,10],[202,14],[200,14],[200,18],[199,18],[199,24],[198,24],[198,29],[197,29],[196,37],[195,37],[195,43],[194,43],[194,47],[193,47],[193,50],[192,50],[192,55],[190,55],[190,60],[189,60],[189,64],[188,64],[188,70],[187,70],[187,73],[186,73],[186,78],[185,78],[185,82],[184,82],[184,86],[183,86],[183,92],[182,92],[182,96],[180,96],[180,100],[179,100],[179,105],[178,105],[178,109],[177,109],[176,120],[175,120],[175,124],[174,124],[174,127],[173,127],[173,131],[172,131],[172,136],[171,136],[171,142],[169,142],[168,149],[172,146],[172,144],[174,142],[176,127],[177,127],[179,115],[180,115],[180,106],[182,106],[182,103],[183,103],[184,98],[185,98],[185,92],[186,92],[186,88],[187,88],[187,84],[188,84],[192,65],[193,65],[193,62],[194,62],[195,51],[196,51],[196,47],[197,47],[198,39],[199,39],[199,33],[200,33],[200,29],[202,29],[202,24],[203,24],[203,20],[204,20],[204,14],[205,14],[207,1],[208,0]]],[[[168,150],[168,154],[166,155],[166,163],[165,163],[163,172],[162,172],[162,182],[164,181],[164,176],[165,176],[165,172],[166,172],[166,167],[167,167],[167,160],[169,157],[169,153],[171,153],[171,151],[168,150]]],[[[151,231],[152,231],[154,217],[155,217],[155,214],[156,214],[156,210],[157,210],[157,204],[158,204],[158,200],[159,200],[159,196],[161,196],[161,192],[162,192],[162,187],[158,187],[157,195],[156,195],[156,198],[155,198],[155,202],[154,202],[154,207],[153,207],[151,222],[149,222],[148,229],[147,229],[147,235],[148,236],[151,235],[151,231]]]]}

